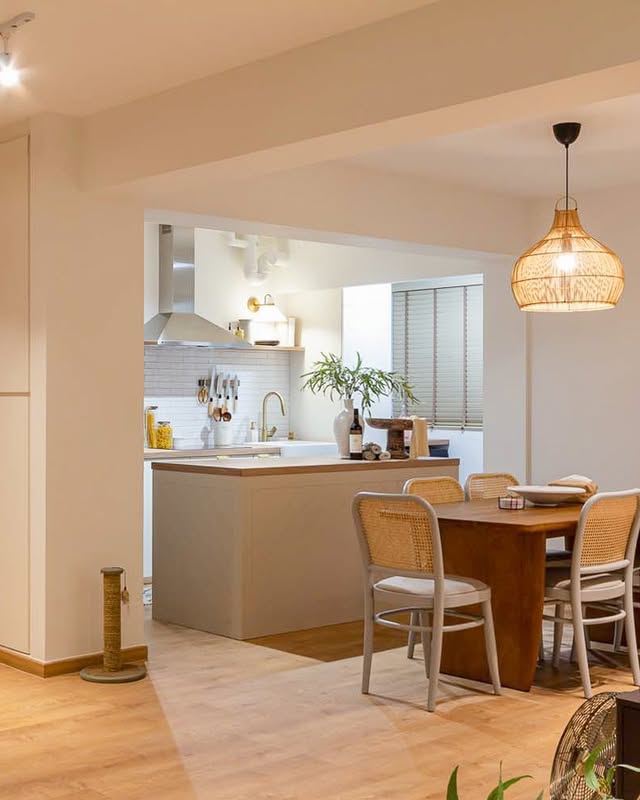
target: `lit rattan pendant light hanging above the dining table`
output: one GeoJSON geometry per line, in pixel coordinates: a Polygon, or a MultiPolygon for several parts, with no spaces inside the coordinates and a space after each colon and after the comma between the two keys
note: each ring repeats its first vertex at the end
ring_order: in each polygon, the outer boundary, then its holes
{"type": "Polygon", "coordinates": [[[565,194],[551,230],[516,261],[511,289],[523,311],[599,311],[613,308],[624,288],[618,256],[585,231],[569,197],[569,145],[580,123],[561,122],[553,133],[565,148],[565,194]]]}

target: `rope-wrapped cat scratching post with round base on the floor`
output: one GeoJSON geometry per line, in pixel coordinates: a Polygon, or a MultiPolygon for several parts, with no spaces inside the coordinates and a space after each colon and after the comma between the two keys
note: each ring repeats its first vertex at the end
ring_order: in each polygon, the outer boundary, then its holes
{"type": "Polygon", "coordinates": [[[80,677],[93,683],[131,683],[139,681],[147,674],[144,666],[122,663],[122,624],[120,609],[122,590],[120,576],[122,567],[103,567],[102,583],[104,591],[104,654],[102,666],[85,667],[80,677]]]}

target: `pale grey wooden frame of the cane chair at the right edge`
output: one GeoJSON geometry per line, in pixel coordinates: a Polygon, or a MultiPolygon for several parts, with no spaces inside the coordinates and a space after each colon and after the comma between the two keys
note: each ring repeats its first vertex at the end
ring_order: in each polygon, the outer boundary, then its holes
{"type": "MultiPolygon", "coordinates": [[[[554,623],[553,664],[556,667],[559,664],[562,630],[565,625],[572,625],[575,655],[580,668],[584,695],[587,698],[592,696],[586,634],[586,629],[590,625],[624,621],[633,682],[636,686],[640,686],[640,662],[633,615],[633,560],[640,529],[639,501],[640,489],[601,492],[587,500],[580,513],[576,530],[569,585],[566,586],[566,581],[549,583],[545,589],[545,605],[555,604],[555,614],[543,615],[543,619],[554,623]],[[624,557],[609,561],[596,558],[595,562],[593,558],[585,558],[585,544],[596,538],[590,520],[595,508],[599,504],[610,504],[612,501],[627,497],[636,498],[636,507],[629,523],[624,557]],[[571,609],[571,619],[566,617],[567,607],[571,609]],[[604,616],[586,617],[584,614],[586,607],[598,609],[604,612],[604,616]]],[[[548,580],[553,577],[553,570],[547,572],[547,577],[548,580]]]]}

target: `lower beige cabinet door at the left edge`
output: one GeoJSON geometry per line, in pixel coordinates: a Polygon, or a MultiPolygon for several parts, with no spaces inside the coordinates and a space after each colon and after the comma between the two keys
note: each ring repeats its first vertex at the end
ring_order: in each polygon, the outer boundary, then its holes
{"type": "Polygon", "coordinates": [[[29,652],[29,398],[0,397],[0,645],[29,652]]]}

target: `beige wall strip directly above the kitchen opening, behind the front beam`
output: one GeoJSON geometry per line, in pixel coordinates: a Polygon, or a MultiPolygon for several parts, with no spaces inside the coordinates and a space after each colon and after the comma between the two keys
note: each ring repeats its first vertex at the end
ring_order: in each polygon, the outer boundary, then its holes
{"type": "Polygon", "coordinates": [[[206,168],[184,170],[132,184],[131,192],[146,209],[160,209],[158,221],[175,219],[162,210],[176,209],[189,212],[182,219],[196,227],[225,230],[244,220],[248,232],[293,239],[340,241],[345,234],[392,249],[414,242],[512,254],[528,239],[520,199],[338,163],[250,181],[216,182],[206,168]]]}

